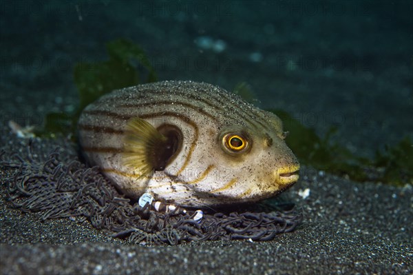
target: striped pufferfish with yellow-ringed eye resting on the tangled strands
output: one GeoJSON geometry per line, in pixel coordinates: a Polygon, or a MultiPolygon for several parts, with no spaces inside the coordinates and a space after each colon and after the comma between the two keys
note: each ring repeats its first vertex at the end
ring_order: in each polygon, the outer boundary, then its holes
{"type": "Polygon", "coordinates": [[[163,81],[116,90],[78,124],[89,163],[125,194],[202,207],[253,202],[298,179],[282,121],[207,83],[163,81]]]}

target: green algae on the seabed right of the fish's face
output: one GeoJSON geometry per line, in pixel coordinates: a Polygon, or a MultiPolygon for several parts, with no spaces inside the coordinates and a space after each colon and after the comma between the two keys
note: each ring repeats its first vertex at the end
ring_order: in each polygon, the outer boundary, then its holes
{"type": "Polygon", "coordinates": [[[413,184],[413,140],[408,136],[394,146],[377,150],[372,159],[367,159],[337,141],[337,128],[330,128],[320,137],[313,128],[302,125],[287,112],[269,111],[282,119],[284,130],[289,132],[286,143],[301,163],[359,182],[413,184]]]}

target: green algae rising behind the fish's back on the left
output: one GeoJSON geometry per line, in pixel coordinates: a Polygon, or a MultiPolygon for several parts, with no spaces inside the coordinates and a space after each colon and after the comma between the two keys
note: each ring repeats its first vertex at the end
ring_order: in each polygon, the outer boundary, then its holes
{"type": "Polygon", "coordinates": [[[109,59],[81,62],[74,66],[74,83],[78,89],[79,105],[71,113],[51,112],[45,125],[36,130],[37,136],[54,137],[70,135],[76,139],[76,125],[82,110],[103,94],[112,90],[149,83],[157,80],[156,72],[145,51],[127,39],[117,39],[106,44],[109,59]],[[146,74],[145,80],[142,81],[146,74]]]}

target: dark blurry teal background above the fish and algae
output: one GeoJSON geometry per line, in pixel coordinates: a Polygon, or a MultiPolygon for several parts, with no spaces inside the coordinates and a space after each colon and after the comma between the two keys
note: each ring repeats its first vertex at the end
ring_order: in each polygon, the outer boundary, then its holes
{"type": "Polygon", "coordinates": [[[106,59],[105,42],[123,37],[160,80],[246,81],[262,108],[320,134],[337,126],[357,154],[413,133],[412,1],[0,3],[1,123],[73,110],[74,64],[106,59]]]}

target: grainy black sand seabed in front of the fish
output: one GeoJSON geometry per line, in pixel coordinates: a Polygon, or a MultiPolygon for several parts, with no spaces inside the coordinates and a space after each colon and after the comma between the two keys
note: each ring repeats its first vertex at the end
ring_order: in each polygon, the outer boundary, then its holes
{"type": "MultiPolygon", "coordinates": [[[[4,130],[4,129],[3,129],[4,130]]],[[[6,130],[4,131],[6,132],[6,130]]],[[[18,152],[13,134],[6,153],[18,152]]],[[[8,141],[7,141],[8,140],[8,141]]],[[[44,150],[50,150],[47,146],[44,150]]],[[[67,148],[67,154],[74,150],[67,148]]],[[[142,247],[112,238],[87,221],[42,222],[6,201],[1,171],[2,274],[412,274],[412,194],[354,183],[308,167],[290,191],[304,221],[268,242],[204,241],[142,247]],[[310,190],[307,198],[299,190],[310,190]]]]}

